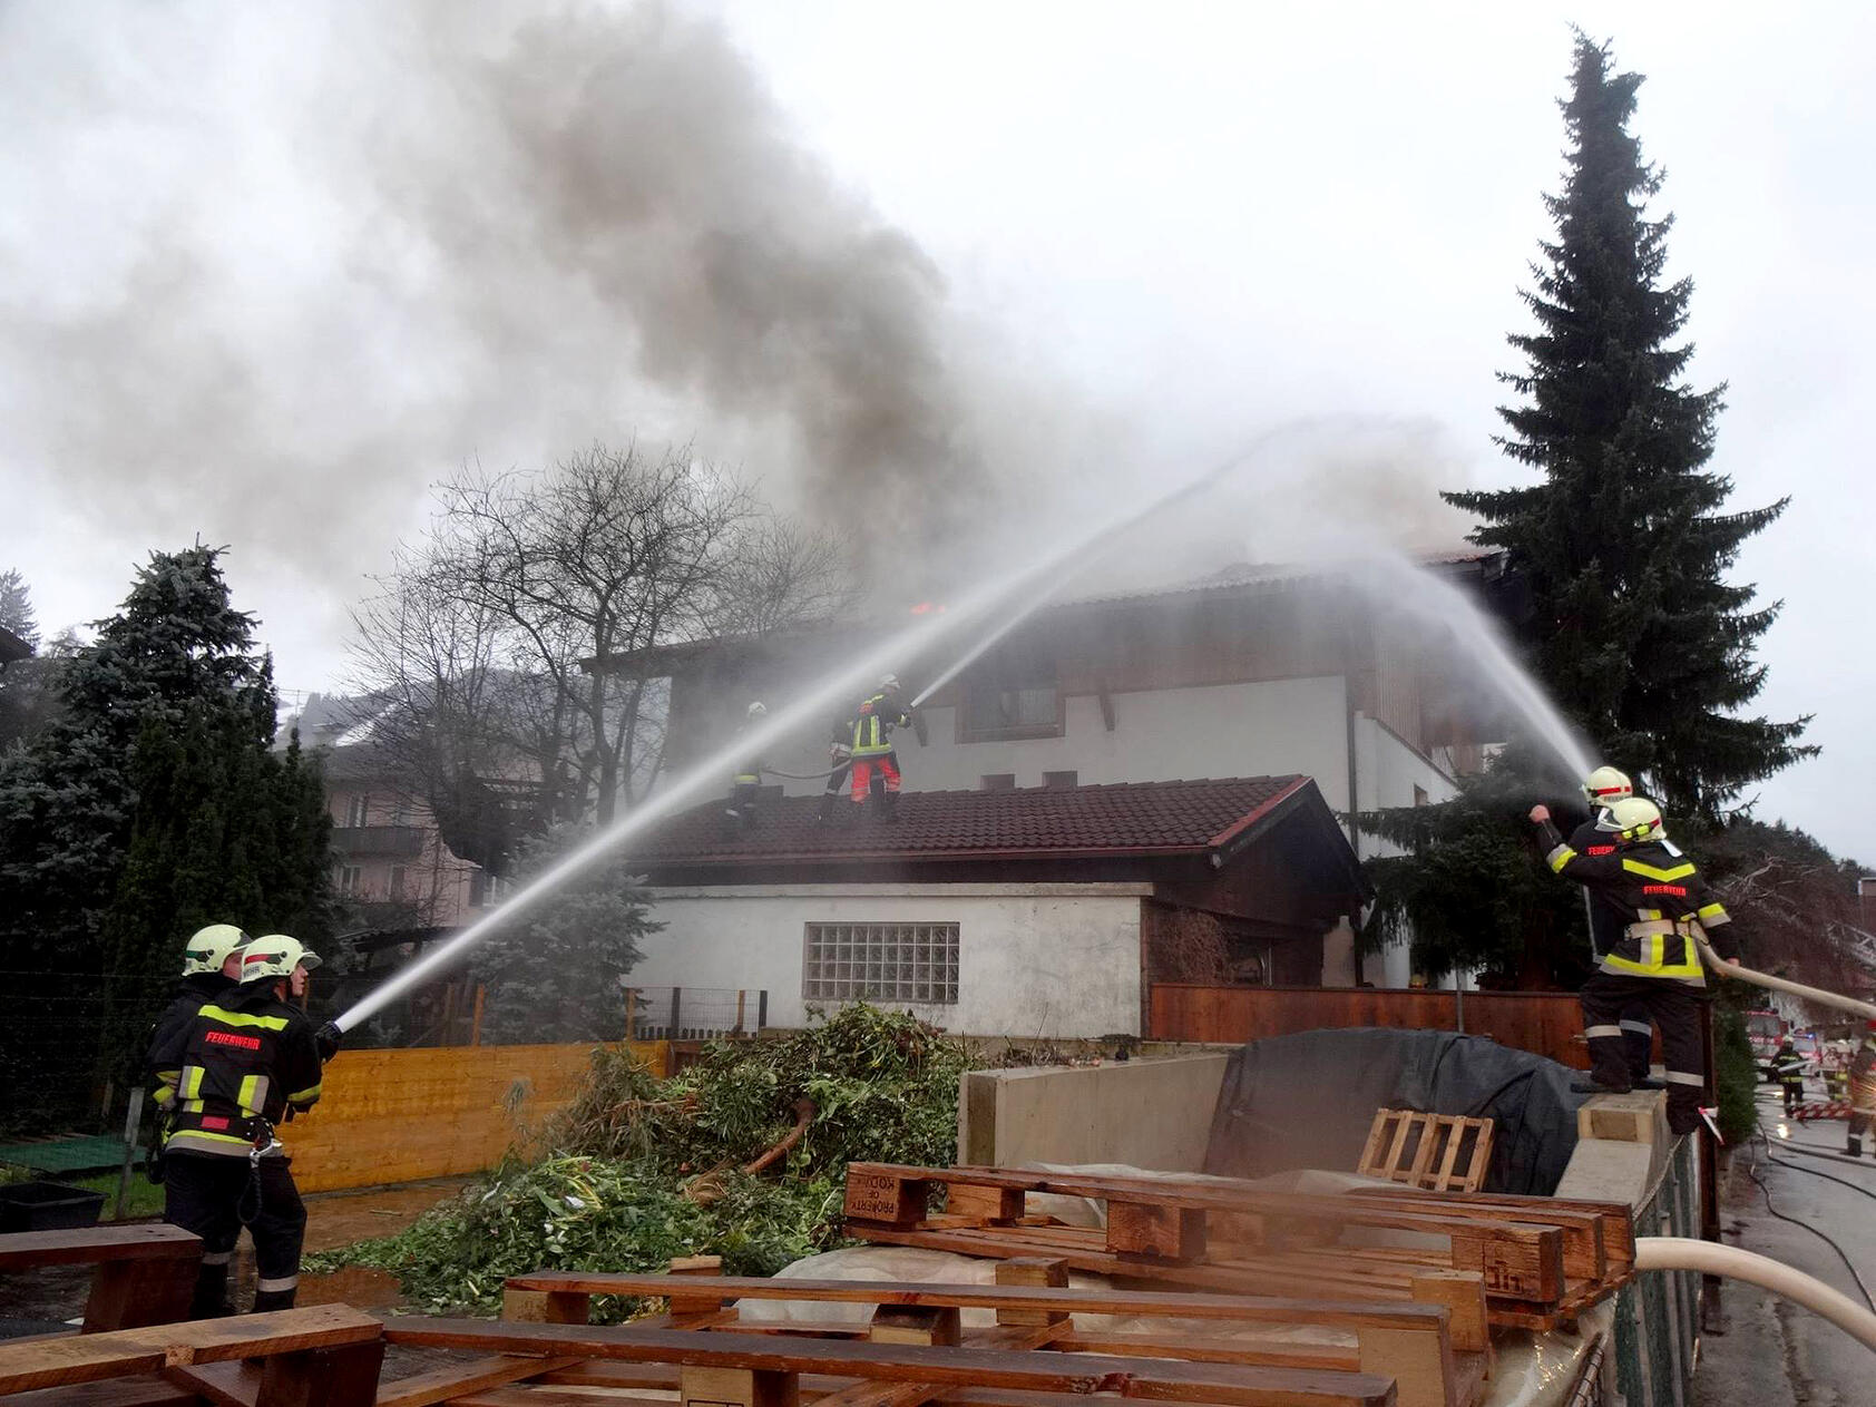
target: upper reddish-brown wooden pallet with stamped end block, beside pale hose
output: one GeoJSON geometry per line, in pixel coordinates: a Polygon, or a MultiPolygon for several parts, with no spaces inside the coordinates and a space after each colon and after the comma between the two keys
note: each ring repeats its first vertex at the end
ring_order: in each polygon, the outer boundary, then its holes
{"type": "Polygon", "coordinates": [[[846,1229],[870,1242],[991,1259],[1056,1257],[1122,1281],[1229,1294],[1311,1285],[1338,1298],[1446,1296],[1461,1347],[1482,1347],[1488,1323],[1568,1326],[1634,1274],[1625,1204],[1407,1188],[1306,1195],[1227,1178],[854,1163],[846,1229]],[[947,1189],[947,1204],[932,1214],[938,1188],[947,1189]],[[1105,1203],[1107,1225],[1030,1216],[1032,1193],[1105,1203]],[[1354,1244],[1364,1231],[1420,1234],[1394,1238],[1415,1242],[1405,1246],[1354,1244]],[[1480,1296],[1475,1323],[1467,1302],[1480,1296]]]}

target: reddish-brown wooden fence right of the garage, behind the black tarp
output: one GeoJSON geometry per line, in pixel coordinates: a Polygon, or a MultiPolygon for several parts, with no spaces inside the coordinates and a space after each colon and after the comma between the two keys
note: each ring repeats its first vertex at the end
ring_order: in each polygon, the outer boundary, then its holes
{"type": "MultiPolygon", "coordinates": [[[[1535,1051],[1565,1066],[1589,1067],[1583,1013],[1574,992],[1465,992],[1465,1032],[1535,1051]]],[[[1300,1030],[1388,1026],[1458,1030],[1454,992],[1386,987],[1152,987],[1152,1030],[1159,1041],[1257,1041],[1300,1030]]]]}

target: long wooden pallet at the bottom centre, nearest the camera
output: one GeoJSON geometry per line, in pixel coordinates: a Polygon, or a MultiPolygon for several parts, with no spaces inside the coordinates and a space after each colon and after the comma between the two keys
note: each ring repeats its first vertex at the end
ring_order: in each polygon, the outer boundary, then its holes
{"type": "Polygon", "coordinates": [[[1004,1263],[996,1285],[516,1276],[501,1324],[392,1321],[394,1343],[490,1356],[386,1383],[377,1407],[642,1407],[647,1392],[672,1388],[683,1407],[1077,1407],[1090,1392],[1242,1407],[1476,1407],[1484,1396],[1490,1358],[1454,1353],[1443,1306],[1086,1291],[1066,1279],[1058,1261],[1004,1263]],[[666,1296],[673,1313],[593,1328],[593,1294],[666,1296]],[[745,1323],[735,1302],[762,1298],[865,1304],[872,1315],[745,1323]],[[966,1308],[996,1309],[998,1324],[961,1330],[966,1308]],[[673,1326],[675,1311],[687,1328],[673,1326]],[[1167,1319],[1169,1328],[1077,1328],[1077,1313],[1167,1319]],[[1193,1332],[1189,1321],[1218,1332],[1193,1332]],[[1294,1324],[1336,1334],[1313,1343],[1263,1334],[1294,1324]]]}

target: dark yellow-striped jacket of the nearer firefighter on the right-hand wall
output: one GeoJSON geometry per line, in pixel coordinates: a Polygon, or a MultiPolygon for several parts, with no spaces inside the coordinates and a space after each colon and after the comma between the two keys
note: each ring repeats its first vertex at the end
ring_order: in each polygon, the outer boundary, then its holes
{"type": "Polygon", "coordinates": [[[1694,861],[1666,840],[1585,855],[1565,844],[1550,822],[1538,825],[1538,835],[1551,870],[1589,889],[1591,902],[1606,900],[1623,923],[1621,936],[1602,955],[1602,972],[1705,987],[1696,934],[1705,932],[1720,957],[1735,951],[1732,915],[1700,878],[1694,861]]]}

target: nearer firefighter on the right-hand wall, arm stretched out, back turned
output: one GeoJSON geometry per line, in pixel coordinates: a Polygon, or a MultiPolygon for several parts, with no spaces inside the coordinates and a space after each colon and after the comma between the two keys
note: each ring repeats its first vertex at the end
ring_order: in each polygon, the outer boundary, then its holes
{"type": "Polygon", "coordinates": [[[1565,844],[1548,807],[1533,807],[1544,859],[1555,874],[1604,895],[1623,912],[1623,936],[1583,983],[1583,1034],[1589,1037],[1593,1088],[1626,1094],[1634,1082],[1623,1051],[1623,1009],[1647,1006],[1660,1028],[1668,1067],[1668,1127],[1700,1127],[1705,1073],[1700,1041],[1700,998],[1707,985],[1694,940],[1707,934],[1720,957],[1733,955],[1732,919],[1713,899],[1700,870],[1666,844],[1660,809],[1642,797],[1617,801],[1596,820],[1613,837],[1608,855],[1583,855],[1565,844]]]}

